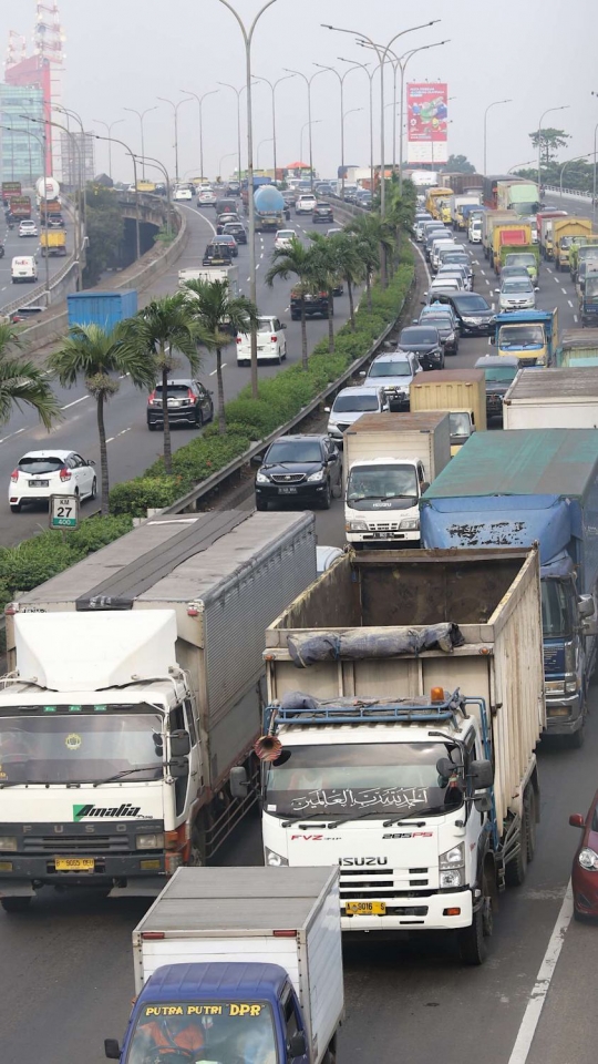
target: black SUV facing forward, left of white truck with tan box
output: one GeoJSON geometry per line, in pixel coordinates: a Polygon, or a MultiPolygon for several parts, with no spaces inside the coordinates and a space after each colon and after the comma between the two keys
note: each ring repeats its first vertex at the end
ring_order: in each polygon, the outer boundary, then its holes
{"type": "Polygon", "coordinates": [[[256,509],[269,502],[330,509],[342,494],[342,461],[328,436],[281,436],[270,443],[256,475],[256,509]]]}

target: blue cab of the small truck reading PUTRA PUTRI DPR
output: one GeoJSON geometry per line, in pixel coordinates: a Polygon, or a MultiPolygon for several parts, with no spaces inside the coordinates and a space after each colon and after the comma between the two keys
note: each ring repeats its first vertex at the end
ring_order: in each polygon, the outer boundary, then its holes
{"type": "Polygon", "coordinates": [[[303,1014],[279,964],[166,964],[136,999],[121,1064],[309,1064],[303,1014]]]}

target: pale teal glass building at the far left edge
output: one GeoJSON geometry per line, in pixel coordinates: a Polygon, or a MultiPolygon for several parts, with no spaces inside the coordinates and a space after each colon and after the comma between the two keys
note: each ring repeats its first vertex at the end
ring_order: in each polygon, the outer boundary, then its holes
{"type": "Polygon", "coordinates": [[[0,84],[2,181],[31,187],[43,176],[43,120],[41,86],[0,84]]]}

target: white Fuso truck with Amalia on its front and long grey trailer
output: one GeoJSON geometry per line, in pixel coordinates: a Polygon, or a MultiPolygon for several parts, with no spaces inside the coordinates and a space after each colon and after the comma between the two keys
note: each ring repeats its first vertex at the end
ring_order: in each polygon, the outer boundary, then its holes
{"type": "Polygon", "coordinates": [[[251,805],[264,630],[316,579],[313,515],[153,518],[8,607],[0,900],[153,896],[251,805]],[[248,623],[250,618],[250,624],[248,623]]]}

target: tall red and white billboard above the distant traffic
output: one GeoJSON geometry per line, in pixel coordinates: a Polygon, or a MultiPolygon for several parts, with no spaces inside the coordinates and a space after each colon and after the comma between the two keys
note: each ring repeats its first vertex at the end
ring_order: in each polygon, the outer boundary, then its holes
{"type": "Polygon", "coordinates": [[[445,163],[448,158],[447,88],[444,82],[408,85],[408,162],[445,163]]]}

